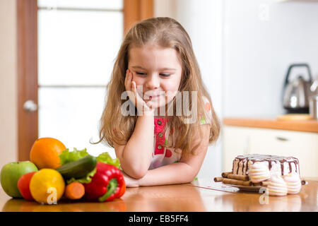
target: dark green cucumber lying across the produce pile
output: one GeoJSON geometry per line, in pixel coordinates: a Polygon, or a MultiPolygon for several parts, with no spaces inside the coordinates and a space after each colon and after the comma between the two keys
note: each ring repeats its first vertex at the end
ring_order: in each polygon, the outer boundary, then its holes
{"type": "Polygon", "coordinates": [[[66,163],[56,170],[64,177],[64,179],[80,179],[86,177],[96,167],[97,160],[92,155],[86,155],[74,162],[66,163]]]}

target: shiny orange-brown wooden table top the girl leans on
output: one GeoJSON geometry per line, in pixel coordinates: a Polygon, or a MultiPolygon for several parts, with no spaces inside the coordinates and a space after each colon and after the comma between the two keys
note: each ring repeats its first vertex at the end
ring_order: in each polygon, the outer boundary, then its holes
{"type": "Polygon", "coordinates": [[[265,197],[264,194],[198,179],[191,184],[128,188],[122,198],[106,203],[59,201],[40,205],[21,198],[10,198],[0,189],[2,211],[318,211],[318,180],[307,179],[297,195],[265,197]],[[223,191],[218,191],[223,190],[223,191]],[[268,198],[268,199],[266,199],[268,198]],[[266,200],[268,203],[266,204],[266,200]],[[261,204],[263,203],[263,204],[261,204]]]}

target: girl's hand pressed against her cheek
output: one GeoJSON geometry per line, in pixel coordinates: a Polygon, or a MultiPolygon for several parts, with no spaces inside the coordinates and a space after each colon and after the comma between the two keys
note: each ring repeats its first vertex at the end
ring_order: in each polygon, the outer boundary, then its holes
{"type": "Polygon", "coordinates": [[[137,92],[136,82],[133,81],[133,75],[129,69],[126,70],[126,77],[125,77],[125,88],[128,91],[129,100],[135,105],[138,109],[138,112],[147,112],[153,113],[154,109],[151,107],[151,102],[149,101],[146,103],[143,98],[137,92]]]}

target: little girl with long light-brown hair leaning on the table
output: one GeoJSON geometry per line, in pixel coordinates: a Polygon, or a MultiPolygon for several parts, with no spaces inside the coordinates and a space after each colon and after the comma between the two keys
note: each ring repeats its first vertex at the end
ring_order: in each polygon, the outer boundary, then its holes
{"type": "Polygon", "coordinates": [[[126,186],[193,181],[220,123],[182,25],[172,18],[134,25],[106,97],[98,142],[114,148],[126,186]]]}

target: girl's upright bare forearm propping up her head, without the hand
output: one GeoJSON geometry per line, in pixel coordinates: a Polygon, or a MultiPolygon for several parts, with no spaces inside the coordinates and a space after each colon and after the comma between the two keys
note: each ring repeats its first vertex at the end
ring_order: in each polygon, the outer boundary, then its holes
{"type": "Polygon", "coordinates": [[[138,117],[134,132],[126,145],[114,144],[120,166],[130,177],[140,179],[151,165],[153,151],[153,114],[138,117]]]}

